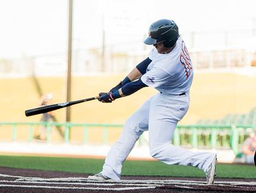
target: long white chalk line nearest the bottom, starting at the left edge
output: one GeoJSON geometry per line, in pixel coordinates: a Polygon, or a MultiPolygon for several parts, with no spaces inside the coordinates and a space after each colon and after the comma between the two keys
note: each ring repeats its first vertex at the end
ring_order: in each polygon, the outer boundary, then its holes
{"type": "Polygon", "coordinates": [[[155,189],[153,187],[124,187],[124,188],[100,188],[100,187],[56,187],[56,186],[44,186],[44,185],[12,185],[12,184],[0,184],[0,187],[22,187],[22,188],[36,188],[36,189],[81,189],[81,190],[138,190],[138,189],[155,189]]]}

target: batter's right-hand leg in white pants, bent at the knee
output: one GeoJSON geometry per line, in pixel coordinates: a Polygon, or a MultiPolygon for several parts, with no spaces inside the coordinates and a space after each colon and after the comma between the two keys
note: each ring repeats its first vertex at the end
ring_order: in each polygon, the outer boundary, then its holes
{"type": "Polygon", "coordinates": [[[189,106],[189,97],[163,97],[159,95],[151,103],[149,116],[149,143],[152,157],[166,164],[195,166],[205,172],[216,159],[216,154],[192,152],[171,145],[177,122],[184,117],[189,106]]]}

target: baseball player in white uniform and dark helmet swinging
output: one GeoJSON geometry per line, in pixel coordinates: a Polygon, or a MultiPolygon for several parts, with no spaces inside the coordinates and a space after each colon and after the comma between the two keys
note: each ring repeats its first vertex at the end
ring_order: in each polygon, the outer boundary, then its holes
{"type": "Polygon", "coordinates": [[[148,38],[153,45],[147,59],[108,93],[101,92],[99,101],[111,103],[143,87],[159,92],[150,97],[127,119],[118,141],[109,150],[102,171],[88,176],[90,180],[120,180],[122,164],[144,131],[148,131],[150,155],[166,164],[194,166],[204,170],[206,183],[212,184],[216,154],[191,152],[171,144],[173,133],[189,108],[189,88],[193,68],[179,29],[173,20],[158,20],[150,25],[148,38]]]}

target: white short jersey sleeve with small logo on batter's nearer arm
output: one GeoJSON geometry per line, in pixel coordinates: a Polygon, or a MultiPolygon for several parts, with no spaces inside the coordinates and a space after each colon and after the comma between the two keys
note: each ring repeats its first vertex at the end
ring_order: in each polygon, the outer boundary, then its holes
{"type": "Polygon", "coordinates": [[[152,68],[150,71],[147,71],[145,75],[141,76],[141,81],[148,87],[157,88],[168,82],[170,77],[170,73],[162,68],[156,67],[152,68]]]}

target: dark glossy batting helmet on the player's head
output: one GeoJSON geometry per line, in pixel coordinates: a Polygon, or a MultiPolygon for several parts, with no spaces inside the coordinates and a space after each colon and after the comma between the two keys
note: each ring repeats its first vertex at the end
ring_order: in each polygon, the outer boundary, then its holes
{"type": "Polygon", "coordinates": [[[172,47],[179,38],[179,28],[173,20],[158,20],[150,25],[148,38],[144,40],[147,45],[154,45],[161,41],[165,47],[172,47]]]}

